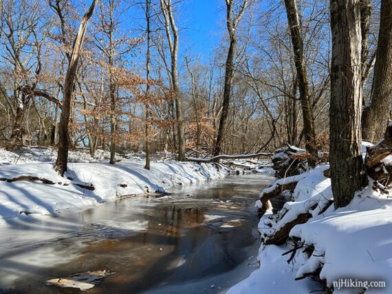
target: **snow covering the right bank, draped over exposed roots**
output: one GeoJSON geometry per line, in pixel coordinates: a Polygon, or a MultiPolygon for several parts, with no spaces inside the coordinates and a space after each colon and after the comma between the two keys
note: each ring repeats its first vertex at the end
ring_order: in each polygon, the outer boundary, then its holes
{"type": "MultiPolygon", "coordinates": [[[[294,259],[287,262],[291,254],[282,254],[294,248],[291,241],[280,246],[262,243],[258,257],[260,268],[228,293],[320,291],[323,290],[321,284],[304,278],[316,269],[320,270],[319,277],[328,287],[334,286],[334,293],[364,293],[361,284],[368,287],[366,293],[392,293],[392,199],[389,196],[392,189],[389,194],[375,191],[373,181],[369,179],[369,186],[358,192],[350,205],[338,210],[334,205],[327,208],[333,199],[331,181],[323,174],[327,168],[328,165],[318,166],[296,179],[290,177],[277,181],[282,184],[300,180],[292,201],[285,203],[275,216],[272,210],[268,211],[259,223],[263,240],[299,214],[309,212],[312,218],[294,226],[290,236],[308,249],[314,247],[310,257],[307,258],[303,249],[298,249],[294,259]],[[296,278],[303,279],[294,280],[296,278]],[[374,281],[385,282],[386,287],[372,287],[374,281]],[[339,289],[339,286],[342,287],[339,289]]],[[[274,186],[276,183],[265,192],[274,186]]],[[[257,206],[260,204],[258,201],[257,206]]]]}

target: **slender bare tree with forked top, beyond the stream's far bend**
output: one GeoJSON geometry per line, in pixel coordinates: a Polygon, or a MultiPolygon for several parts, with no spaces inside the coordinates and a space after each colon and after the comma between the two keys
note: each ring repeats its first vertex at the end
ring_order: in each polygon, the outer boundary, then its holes
{"type": "Polygon", "coordinates": [[[219,128],[217,133],[217,139],[215,141],[213,155],[217,156],[221,153],[221,144],[224,139],[226,124],[228,121],[229,106],[230,106],[230,95],[232,88],[232,78],[234,77],[234,58],[237,47],[237,25],[241,20],[243,13],[250,0],[243,0],[239,6],[239,10],[235,12],[235,0],[226,0],[226,27],[228,30],[230,45],[228,49],[228,55],[226,57],[225,64],[225,81],[224,81],[224,99],[222,102],[221,120],[219,121],[219,128]]]}

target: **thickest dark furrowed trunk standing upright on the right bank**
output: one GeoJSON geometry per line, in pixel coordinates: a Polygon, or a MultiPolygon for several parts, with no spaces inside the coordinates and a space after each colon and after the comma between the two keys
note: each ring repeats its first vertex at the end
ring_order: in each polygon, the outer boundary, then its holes
{"type": "Polygon", "coordinates": [[[359,0],[331,0],[331,186],[336,208],[348,205],[367,181],[362,160],[359,0]]]}

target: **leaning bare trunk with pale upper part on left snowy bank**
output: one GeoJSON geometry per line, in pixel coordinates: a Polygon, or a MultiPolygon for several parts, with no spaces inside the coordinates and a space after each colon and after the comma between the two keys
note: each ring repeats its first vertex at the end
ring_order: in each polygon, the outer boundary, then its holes
{"type": "Polygon", "coordinates": [[[54,169],[61,176],[67,171],[68,161],[68,144],[69,144],[69,115],[71,113],[71,102],[72,93],[74,90],[74,80],[76,76],[76,69],[78,67],[78,60],[80,53],[83,48],[83,40],[87,30],[87,23],[91,18],[94,8],[98,0],[93,0],[89,10],[83,16],[83,19],[79,26],[78,34],[76,35],[74,46],[72,47],[71,58],[69,59],[69,65],[67,75],[65,76],[64,82],[64,93],[63,93],[63,109],[61,111],[60,123],[58,124],[58,152],[56,163],[54,163],[54,169]]]}

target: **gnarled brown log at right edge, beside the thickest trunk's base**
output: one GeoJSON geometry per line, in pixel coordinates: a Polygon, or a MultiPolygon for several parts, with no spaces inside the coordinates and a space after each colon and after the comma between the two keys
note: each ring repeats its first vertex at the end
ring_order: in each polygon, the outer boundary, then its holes
{"type": "Polygon", "coordinates": [[[392,181],[392,166],[382,162],[389,155],[392,155],[392,124],[386,128],[384,139],[367,149],[364,159],[364,165],[369,176],[382,183],[382,185],[389,185],[392,181]]]}

